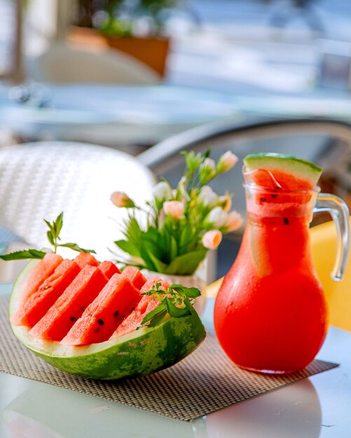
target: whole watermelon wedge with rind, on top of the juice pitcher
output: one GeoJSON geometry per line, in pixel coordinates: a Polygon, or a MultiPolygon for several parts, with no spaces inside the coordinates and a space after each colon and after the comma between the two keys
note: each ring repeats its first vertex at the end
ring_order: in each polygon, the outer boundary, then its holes
{"type": "Polygon", "coordinates": [[[244,158],[245,178],[263,188],[311,190],[323,169],[316,164],[278,153],[256,153],[244,158]]]}

